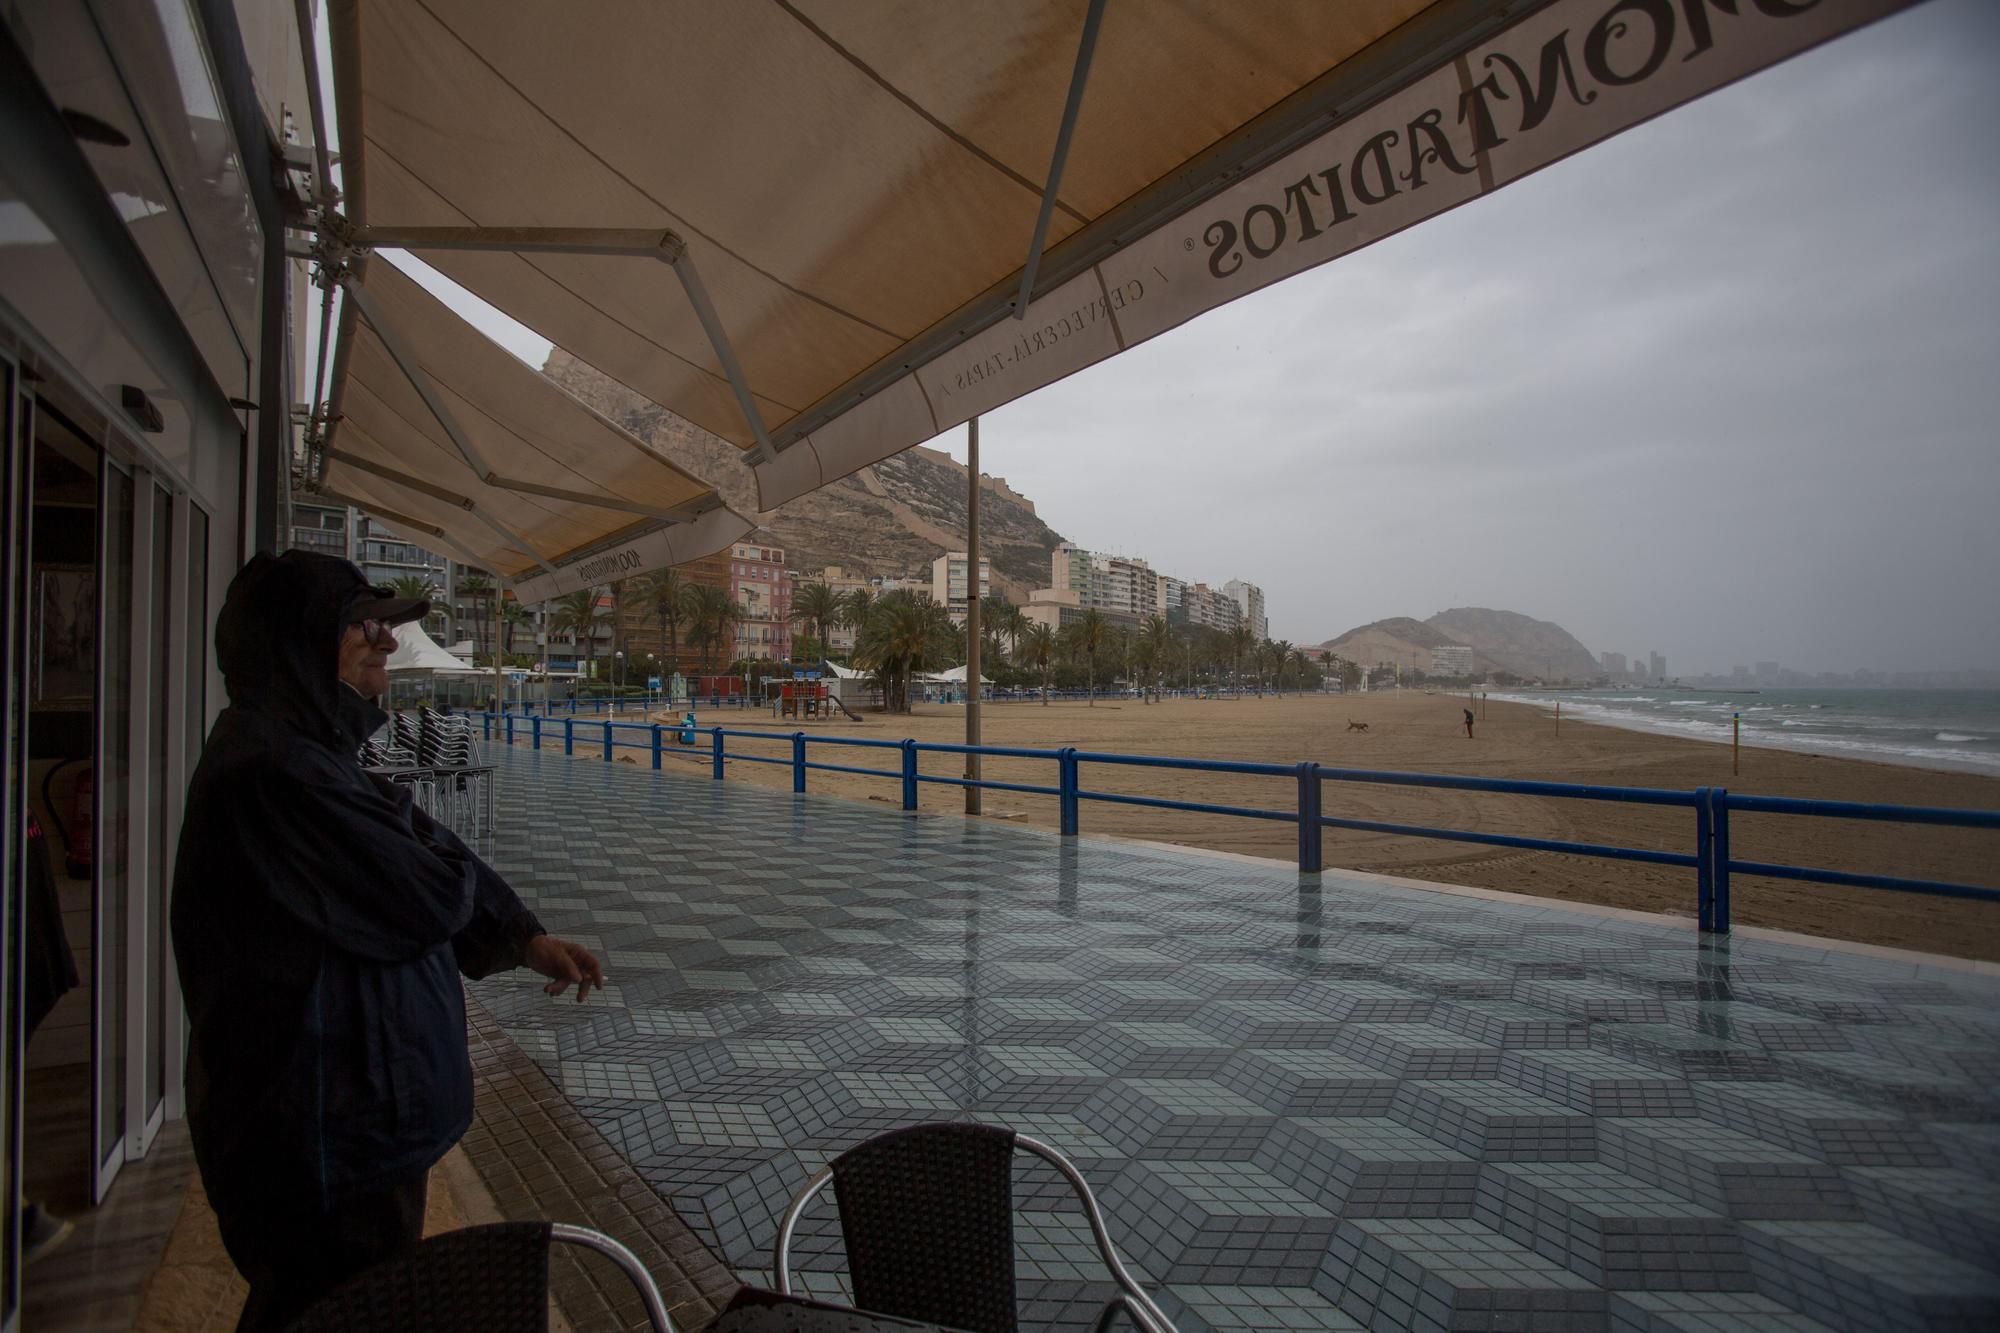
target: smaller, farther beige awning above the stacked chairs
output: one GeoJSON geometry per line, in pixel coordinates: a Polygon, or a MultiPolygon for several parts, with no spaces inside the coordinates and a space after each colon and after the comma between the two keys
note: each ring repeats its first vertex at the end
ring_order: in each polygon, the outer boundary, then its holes
{"type": "Polygon", "coordinates": [[[338,398],[316,476],[324,492],[412,536],[448,536],[460,558],[518,590],[602,582],[570,574],[566,562],[582,554],[648,540],[692,560],[750,530],[712,486],[524,366],[388,260],[366,260],[346,290],[338,398]]]}

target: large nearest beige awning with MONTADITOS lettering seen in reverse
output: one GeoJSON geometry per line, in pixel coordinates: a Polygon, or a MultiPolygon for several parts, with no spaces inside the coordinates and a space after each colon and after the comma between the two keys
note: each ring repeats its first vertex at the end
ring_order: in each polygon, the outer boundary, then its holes
{"type": "Polygon", "coordinates": [[[334,0],[332,40],[360,234],[774,508],[1908,2],[1108,0],[1022,320],[1086,0],[334,0]]]}

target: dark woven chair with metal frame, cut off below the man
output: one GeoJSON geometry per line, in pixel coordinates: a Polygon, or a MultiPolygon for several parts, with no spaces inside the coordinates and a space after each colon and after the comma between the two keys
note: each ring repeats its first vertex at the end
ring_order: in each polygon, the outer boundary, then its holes
{"type": "Polygon", "coordinates": [[[660,1287],[638,1257],[602,1231],[570,1223],[494,1223],[434,1235],[334,1287],[290,1333],[544,1333],[548,1247],[556,1241],[610,1257],[638,1287],[652,1327],[674,1333],[660,1287]]]}

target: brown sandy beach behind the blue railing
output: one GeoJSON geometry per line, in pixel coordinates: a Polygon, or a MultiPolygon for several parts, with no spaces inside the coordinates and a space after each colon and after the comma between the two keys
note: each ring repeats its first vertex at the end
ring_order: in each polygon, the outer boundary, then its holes
{"type": "MultiPolygon", "coordinates": [[[[1742,753],[1742,773],[1732,777],[1730,751],[1724,745],[1592,727],[1568,719],[1558,735],[1554,721],[1544,711],[1516,703],[1488,701],[1486,713],[1474,729],[1476,735],[1468,741],[1462,707],[1464,699],[1460,697],[1420,693],[1252,697],[1162,705],[1100,701],[1096,707],[1082,703],[1048,707],[990,703],[982,709],[982,739],[986,745],[1036,749],[1076,745],[1086,751],[1286,765],[1312,759],[1320,765],[1352,769],[1682,791],[1706,785],[1776,797],[2000,809],[2000,779],[1748,747],[1742,753]],[[1368,731],[1350,731],[1350,721],[1366,723],[1368,731]]],[[[964,711],[958,707],[918,707],[910,717],[876,713],[864,717],[864,723],[844,719],[814,723],[808,725],[808,733],[886,741],[902,737],[964,741],[964,711]]],[[[778,729],[768,715],[738,719],[702,713],[698,721],[704,727],[724,721],[728,727],[782,733],[796,727],[796,723],[786,723],[778,729]]],[[[732,739],[730,749],[790,755],[790,747],[778,741],[766,747],[732,739]]],[[[578,755],[584,753],[584,745],[578,743],[578,755]]],[[[588,753],[594,759],[598,751],[590,749],[588,753]]],[[[860,749],[814,747],[812,759],[858,767],[896,767],[894,755],[860,749]]],[[[634,761],[644,763],[644,757],[634,761]]],[[[682,771],[708,773],[706,749],[700,755],[680,751],[668,763],[682,771]]],[[[952,755],[924,757],[924,773],[960,775],[962,765],[964,761],[952,755]]],[[[764,787],[790,785],[790,769],[778,765],[730,765],[728,777],[764,787]]],[[[1048,787],[1056,781],[1052,763],[1028,759],[988,759],[984,777],[1048,787]]],[[[1086,765],[1082,785],[1178,801],[1296,809],[1296,787],[1290,779],[1086,765]]],[[[900,801],[896,781],[844,773],[812,773],[808,791],[856,801],[900,801]]],[[[1692,851],[1694,847],[1694,813],[1682,809],[1340,783],[1328,783],[1324,799],[1328,815],[1352,819],[1662,851],[1692,851]]],[[[958,789],[924,785],[922,809],[962,813],[964,795],[958,789]]],[[[986,793],[986,817],[1054,827],[1056,801],[1026,793],[986,793]]],[[[1296,857],[1294,827],[1222,815],[1086,801],[1082,805],[1082,833],[1208,847],[1284,861],[1296,857]]],[[[2000,867],[2000,835],[1974,829],[1736,815],[1732,837],[1732,851],[1738,859],[1960,883],[1992,885],[2000,881],[1994,873],[2000,867]]],[[[1326,867],[1694,915],[1694,871],[1676,867],[1348,831],[1326,833],[1326,867]]],[[[2000,907],[1992,903],[1736,877],[1734,919],[1738,925],[1764,925],[1970,959],[2000,959],[2000,907]]]]}

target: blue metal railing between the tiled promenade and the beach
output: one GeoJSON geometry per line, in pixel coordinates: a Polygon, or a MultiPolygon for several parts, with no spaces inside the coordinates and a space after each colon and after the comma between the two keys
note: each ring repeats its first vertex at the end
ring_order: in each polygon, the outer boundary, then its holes
{"type": "Polygon", "coordinates": [[[1058,827],[1062,837],[1076,837],[1082,823],[1084,801],[1104,805],[1136,805],[1156,811],[1188,811],[1194,815],[1230,815],[1236,819],[1266,819],[1296,825],[1298,829],[1298,869],[1318,873],[1324,869],[1324,831],[1352,829],[1358,833],[1388,833],[1412,839],[1444,839],[1450,843],[1478,843],[1482,847],[1518,847],[1522,851],[1562,853],[1568,857],[1598,857],[1604,861],[1636,861],[1642,865],[1668,865],[1694,871],[1696,917],[1702,931],[1728,933],[1730,929],[1730,879],[1734,875],[1762,875],[1768,879],[1792,879],[1818,885],[1844,885],[1854,889],[1888,889],[1896,893],[1924,893],[1950,899],[2000,901],[2000,889],[1986,885],[1958,885],[1932,879],[1906,879],[1898,875],[1858,875],[1852,871],[1830,871],[1818,867],[1774,865],[1766,861],[1740,861],[1730,853],[1730,815],[1790,815],[1808,819],[1864,819],[1876,823],[1930,825],[1952,829],[2000,829],[2000,811],[1952,811],[1916,805],[1862,805],[1854,801],[1800,801],[1792,797],[1746,797],[1724,787],[1698,787],[1694,791],[1670,791],[1658,787],[1598,787],[1588,783],[1532,783],[1514,779],[1458,777],[1450,773],[1386,773],[1374,769],[1334,769],[1316,763],[1264,765],[1228,759],[1174,759],[1166,755],[1114,755],[1102,751],[1024,749],[1006,745],[948,745],[942,741],[868,741],[862,737],[816,737],[804,731],[746,731],[730,727],[678,727],[672,723],[622,723],[608,715],[546,717],[540,713],[480,713],[488,741],[504,739],[508,745],[526,733],[534,749],[542,749],[544,735],[554,741],[560,731],[562,753],[574,755],[578,733],[586,747],[602,747],[604,763],[612,761],[618,747],[652,753],[652,767],[658,769],[668,751],[682,751],[700,745],[706,737],[710,775],[720,783],[730,763],[744,765],[788,765],[792,769],[792,791],[806,791],[806,775],[852,773],[860,777],[880,777],[902,785],[902,809],[914,811],[918,789],[924,783],[936,787],[978,787],[982,791],[1014,791],[1034,797],[1054,797],[1058,827]],[[638,741],[622,739],[638,733],[638,741]],[[730,751],[728,739],[782,743],[784,755],[748,755],[730,751]],[[894,769],[868,769],[862,765],[828,763],[810,759],[808,747],[832,745],[856,751],[896,751],[894,769]],[[982,759],[1040,759],[1056,765],[1056,785],[1002,783],[998,779],[966,779],[942,773],[924,773],[922,755],[978,755],[982,759]],[[1272,777],[1294,783],[1292,809],[1260,809],[1242,805],[1214,805],[1206,801],[1172,801],[1166,797],[1142,797],[1134,793],[1090,791],[1082,785],[1082,767],[1122,767],[1122,769],[1174,769],[1180,773],[1230,773],[1238,777],[1272,777]],[[1396,825],[1374,819],[1344,819],[1324,811],[1326,783],[1364,783],[1378,787],[1424,787],[1434,791],[1480,791],[1508,797],[1552,797],[1562,801],[1606,801],[1618,805],[1654,805],[1694,813],[1694,851],[1652,851],[1644,847],[1610,847],[1604,843],[1570,843],[1562,839],[1530,839],[1510,833],[1478,833],[1472,829],[1434,829],[1430,825],[1396,825]]]}

